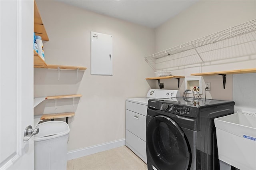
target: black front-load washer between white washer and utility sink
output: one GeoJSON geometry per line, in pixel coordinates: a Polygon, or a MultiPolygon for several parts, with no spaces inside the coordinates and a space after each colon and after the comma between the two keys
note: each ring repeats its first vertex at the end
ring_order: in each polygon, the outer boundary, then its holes
{"type": "Polygon", "coordinates": [[[219,170],[214,118],[234,113],[234,101],[150,99],[146,118],[148,170],[219,170]]]}

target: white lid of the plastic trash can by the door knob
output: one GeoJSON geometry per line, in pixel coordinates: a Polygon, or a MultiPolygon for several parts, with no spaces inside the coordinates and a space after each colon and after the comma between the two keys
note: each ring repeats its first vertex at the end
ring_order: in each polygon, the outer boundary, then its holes
{"type": "Polygon", "coordinates": [[[39,128],[39,133],[34,136],[34,141],[57,138],[70,132],[68,124],[63,121],[48,121],[40,123],[36,128],[39,128]]]}

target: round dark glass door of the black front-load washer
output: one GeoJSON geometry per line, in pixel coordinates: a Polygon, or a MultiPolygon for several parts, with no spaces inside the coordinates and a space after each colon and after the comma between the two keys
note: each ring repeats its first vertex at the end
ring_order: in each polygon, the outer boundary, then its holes
{"type": "Polygon", "coordinates": [[[146,129],[147,152],[161,170],[187,170],[190,147],[183,130],[169,117],[153,117],[146,129]]]}

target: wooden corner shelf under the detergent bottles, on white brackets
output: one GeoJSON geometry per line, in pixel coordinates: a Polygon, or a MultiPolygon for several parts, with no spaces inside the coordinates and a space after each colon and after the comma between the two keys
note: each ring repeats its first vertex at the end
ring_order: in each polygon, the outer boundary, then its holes
{"type": "Polygon", "coordinates": [[[46,62],[36,53],[34,50],[34,68],[46,68],[46,69],[68,69],[68,70],[86,70],[86,67],[80,66],[68,66],[68,65],[50,65],[46,64],[46,62]]]}

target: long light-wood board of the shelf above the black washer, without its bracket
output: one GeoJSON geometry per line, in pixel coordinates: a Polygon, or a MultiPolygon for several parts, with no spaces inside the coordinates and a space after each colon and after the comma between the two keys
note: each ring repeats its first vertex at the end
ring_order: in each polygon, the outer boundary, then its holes
{"type": "Polygon", "coordinates": [[[208,72],[208,73],[195,73],[191,75],[208,76],[208,75],[216,75],[216,74],[243,74],[243,73],[256,73],[256,68],[239,69],[239,70],[231,70],[231,71],[216,71],[216,72],[208,72]]]}

